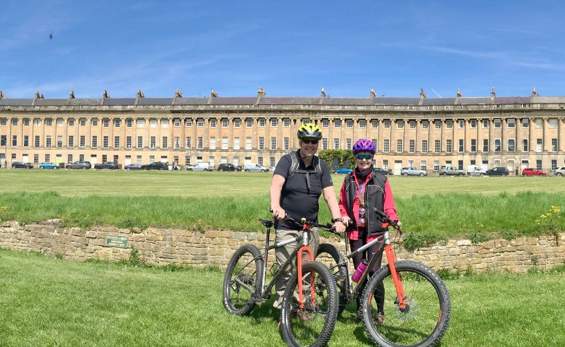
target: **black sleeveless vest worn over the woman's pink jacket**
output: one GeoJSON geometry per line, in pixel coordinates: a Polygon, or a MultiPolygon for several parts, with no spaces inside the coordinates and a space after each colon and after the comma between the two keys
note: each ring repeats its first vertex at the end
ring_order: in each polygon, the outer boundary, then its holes
{"type": "MultiPolygon", "coordinates": [[[[385,183],[386,176],[378,174],[373,171],[371,178],[365,180],[365,228],[367,229],[367,236],[378,235],[387,230],[381,226],[381,217],[373,211],[373,208],[378,208],[384,211],[385,206],[385,183]]],[[[357,194],[357,185],[353,173],[345,176],[345,197],[347,199],[347,215],[354,221],[355,225],[357,219],[353,214],[353,202],[357,194]]]]}

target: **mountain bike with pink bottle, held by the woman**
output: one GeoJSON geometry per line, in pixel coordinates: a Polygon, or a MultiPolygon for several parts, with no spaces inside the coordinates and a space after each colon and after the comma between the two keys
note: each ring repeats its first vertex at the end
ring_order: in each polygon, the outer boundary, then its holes
{"type": "MultiPolygon", "coordinates": [[[[383,226],[402,233],[399,223],[391,221],[378,209],[383,226]]],[[[371,339],[380,346],[434,346],[443,337],[451,318],[449,293],[440,276],[428,266],[410,260],[397,261],[389,232],[349,253],[347,235],[345,258],[331,244],[320,244],[317,260],[331,260],[330,271],[338,286],[340,314],[347,304],[360,298],[363,325],[371,339]],[[354,255],[381,243],[354,287],[349,274],[349,260],[354,255]],[[385,253],[388,264],[370,275],[379,255],[385,253]],[[363,289],[364,288],[364,289],[363,289]],[[363,289],[363,293],[360,291],[363,289]],[[375,300],[373,300],[373,298],[375,300]],[[382,311],[378,312],[378,301],[382,311]]]]}

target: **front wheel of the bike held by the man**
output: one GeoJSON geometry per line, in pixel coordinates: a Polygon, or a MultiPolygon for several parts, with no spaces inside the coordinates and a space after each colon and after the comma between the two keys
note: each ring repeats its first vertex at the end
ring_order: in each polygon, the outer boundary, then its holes
{"type": "Polygon", "coordinates": [[[304,262],[300,280],[304,307],[299,307],[298,273],[295,271],[284,291],[281,335],[288,346],[325,346],[338,319],[336,281],[320,262],[304,262]]]}

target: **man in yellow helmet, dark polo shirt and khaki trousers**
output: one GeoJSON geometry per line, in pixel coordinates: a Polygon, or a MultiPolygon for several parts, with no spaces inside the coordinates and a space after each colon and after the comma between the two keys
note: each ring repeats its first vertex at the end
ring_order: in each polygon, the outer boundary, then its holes
{"type": "MultiPolygon", "coordinates": [[[[270,201],[272,216],[277,219],[275,221],[276,242],[292,239],[301,232],[293,230],[295,228],[284,223],[282,219],[285,214],[295,219],[318,220],[320,207],[318,199],[322,194],[331,212],[331,221],[336,232],[345,232],[328,165],[324,160],[315,156],[318,151],[318,143],[322,139],[322,131],[315,124],[306,123],[298,129],[297,135],[300,149],[284,155],[277,163],[272,176],[270,201]]],[[[313,230],[309,242],[308,246],[315,255],[318,251],[318,244],[320,244],[320,234],[317,229],[313,230]]],[[[282,266],[295,248],[296,244],[277,248],[277,264],[282,266]]],[[[275,285],[277,300],[273,306],[276,308],[282,305],[282,296],[289,278],[290,272],[285,273],[275,285]]]]}

